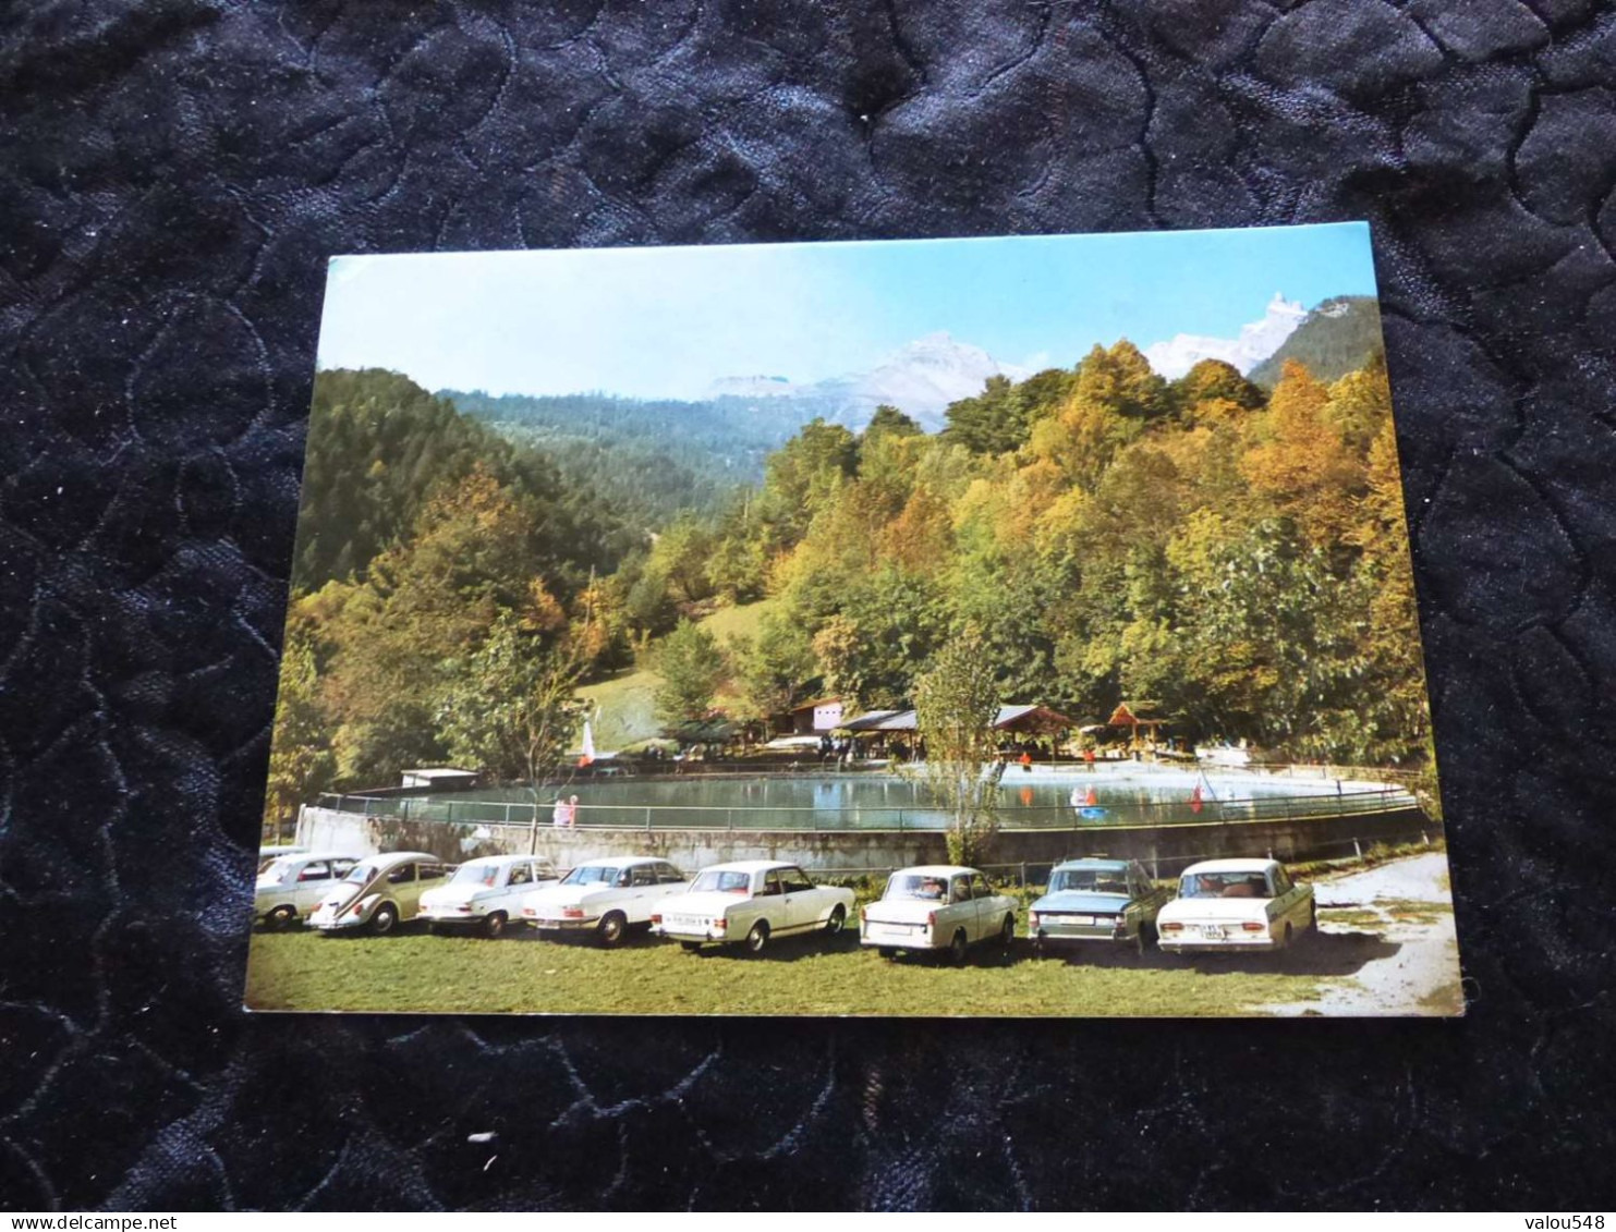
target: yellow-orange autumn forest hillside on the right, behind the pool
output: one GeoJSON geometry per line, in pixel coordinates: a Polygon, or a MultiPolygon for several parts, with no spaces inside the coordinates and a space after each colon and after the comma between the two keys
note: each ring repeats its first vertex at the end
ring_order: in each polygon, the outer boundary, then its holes
{"type": "Polygon", "coordinates": [[[1007,701],[1100,720],[1152,698],[1202,738],[1424,757],[1378,358],[1333,383],[1288,363],[1265,396],[1215,360],[1167,383],[1123,341],[949,418],[934,436],[892,409],[856,436],[811,423],[745,509],[658,543],[680,599],[776,597],[734,662],[753,710],[805,680],[910,702],[974,626],[1007,701]]]}

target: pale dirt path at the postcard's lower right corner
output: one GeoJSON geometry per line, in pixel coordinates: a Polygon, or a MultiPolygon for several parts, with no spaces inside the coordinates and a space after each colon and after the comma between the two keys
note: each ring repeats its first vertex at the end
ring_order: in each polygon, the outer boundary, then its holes
{"type": "Polygon", "coordinates": [[[1269,1006],[1270,1012],[1332,1017],[1464,1012],[1446,856],[1433,851],[1320,880],[1314,883],[1314,899],[1322,933],[1312,938],[1314,945],[1357,938],[1372,956],[1349,974],[1322,978],[1317,1001],[1269,1006]]]}

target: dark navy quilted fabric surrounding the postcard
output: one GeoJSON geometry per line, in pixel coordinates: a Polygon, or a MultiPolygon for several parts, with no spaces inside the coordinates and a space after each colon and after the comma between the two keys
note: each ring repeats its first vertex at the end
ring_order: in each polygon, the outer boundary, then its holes
{"type": "Polygon", "coordinates": [[[1589,0],[0,6],[0,1206],[1610,1208],[1613,69],[1589,0]],[[238,1009],[330,254],[1340,218],[1466,1020],[238,1009]]]}

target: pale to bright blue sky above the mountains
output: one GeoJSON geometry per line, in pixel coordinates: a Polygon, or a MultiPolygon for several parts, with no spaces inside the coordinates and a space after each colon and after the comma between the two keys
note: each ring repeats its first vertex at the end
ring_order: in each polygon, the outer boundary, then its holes
{"type": "Polygon", "coordinates": [[[939,329],[1031,368],[1118,337],[1231,337],[1277,291],[1309,308],[1375,294],[1367,224],[338,257],[320,367],[700,397],[721,376],[863,371],[939,329]]]}

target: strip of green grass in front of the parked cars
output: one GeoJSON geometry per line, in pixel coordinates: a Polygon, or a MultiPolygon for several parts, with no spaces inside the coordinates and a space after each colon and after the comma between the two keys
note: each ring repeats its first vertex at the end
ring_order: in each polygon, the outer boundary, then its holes
{"type": "MultiPolygon", "coordinates": [[[[1212,1016],[1306,1004],[1322,978],[1349,974],[1378,938],[1320,937],[1288,958],[1188,966],[1165,954],[1037,959],[973,949],[965,967],[889,962],[837,938],[776,941],[764,954],[687,954],[632,935],[606,951],[519,930],[496,941],[431,937],[409,925],[385,938],[254,933],[252,1009],[577,1014],[1212,1016]],[[1356,938],[1356,940],[1354,940],[1356,938]]],[[[1023,920],[1025,928],[1025,920],[1023,920]]]]}

